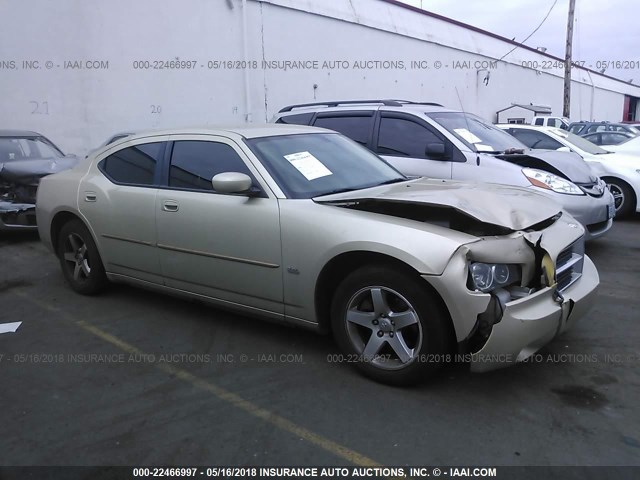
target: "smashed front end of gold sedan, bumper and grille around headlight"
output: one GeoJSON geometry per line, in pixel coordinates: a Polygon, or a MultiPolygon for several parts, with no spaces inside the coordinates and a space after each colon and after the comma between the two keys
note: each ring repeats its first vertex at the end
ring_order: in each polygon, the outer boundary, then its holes
{"type": "Polygon", "coordinates": [[[565,214],[540,231],[466,244],[441,275],[423,275],[448,307],[457,358],[478,372],[521,362],[584,316],[600,281],[584,255],[584,233],[565,214]],[[474,289],[472,262],[520,265],[521,284],[488,293],[474,289]]]}

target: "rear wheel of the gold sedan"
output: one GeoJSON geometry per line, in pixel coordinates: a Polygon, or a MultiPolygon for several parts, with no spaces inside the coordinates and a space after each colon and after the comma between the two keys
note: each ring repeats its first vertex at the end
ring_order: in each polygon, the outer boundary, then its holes
{"type": "Polygon", "coordinates": [[[65,280],[76,292],[95,295],[107,285],[98,248],[80,220],[71,220],[60,230],[58,259],[65,280]]]}

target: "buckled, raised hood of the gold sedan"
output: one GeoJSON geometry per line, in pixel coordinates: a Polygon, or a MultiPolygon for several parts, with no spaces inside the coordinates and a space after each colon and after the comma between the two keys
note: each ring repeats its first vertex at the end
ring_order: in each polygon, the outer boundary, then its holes
{"type": "Polygon", "coordinates": [[[314,198],[317,203],[367,200],[450,207],[514,231],[526,230],[562,210],[553,200],[522,187],[427,178],[314,198]]]}

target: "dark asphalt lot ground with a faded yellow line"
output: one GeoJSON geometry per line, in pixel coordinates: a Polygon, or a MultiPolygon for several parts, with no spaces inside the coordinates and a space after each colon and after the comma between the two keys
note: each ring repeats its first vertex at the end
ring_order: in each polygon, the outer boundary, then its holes
{"type": "Polygon", "coordinates": [[[0,237],[0,465],[640,465],[640,216],[587,246],[595,308],[535,361],[393,388],[329,337],[127,286],[83,297],[0,237]]]}

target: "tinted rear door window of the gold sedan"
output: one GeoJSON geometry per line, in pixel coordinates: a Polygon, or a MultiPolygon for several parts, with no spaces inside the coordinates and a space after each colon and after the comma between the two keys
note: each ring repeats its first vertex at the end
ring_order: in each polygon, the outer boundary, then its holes
{"type": "Polygon", "coordinates": [[[164,145],[164,142],[155,142],[123,148],[102,160],[99,168],[115,183],[153,185],[164,145]]]}

